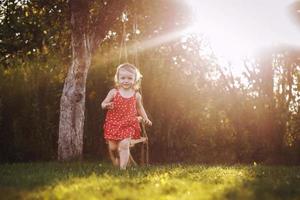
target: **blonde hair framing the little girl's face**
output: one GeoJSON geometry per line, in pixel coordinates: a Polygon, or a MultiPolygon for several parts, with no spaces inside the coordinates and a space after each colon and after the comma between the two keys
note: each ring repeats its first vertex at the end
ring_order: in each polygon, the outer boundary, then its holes
{"type": "Polygon", "coordinates": [[[119,84],[119,71],[120,71],[120,69],[125,69],[126,71],[135,74],[135,80],[134,80],[133,88],[135,90],[140,89],[143,75],[141,74],[140,70],[136,66],[134,66],[130,63],[123,63],[123,64],[120,64],[117,67],[116,74],[115,74],[115,77],[114,77],[116,87],[119,87],[119,85],[120,85],[119,84]]]}

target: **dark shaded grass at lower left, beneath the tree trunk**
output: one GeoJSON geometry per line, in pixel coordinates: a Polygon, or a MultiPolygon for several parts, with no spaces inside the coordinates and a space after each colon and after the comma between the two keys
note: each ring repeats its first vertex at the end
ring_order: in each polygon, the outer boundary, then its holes
{"type": "Polygon", "coordinates": [[[45,162],[0,165],[0,199],[19,199],[33,190],[55,186],[72,178],[118,174],[108,163],[45,162]]]}

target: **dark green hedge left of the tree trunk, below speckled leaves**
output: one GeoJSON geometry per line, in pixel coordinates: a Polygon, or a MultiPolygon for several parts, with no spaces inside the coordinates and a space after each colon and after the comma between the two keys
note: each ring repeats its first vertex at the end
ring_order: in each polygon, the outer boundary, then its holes
{"type": "Polygon", "coordinates": [[[58,58],[2,68],[2,161],[55,159],[65,69],[58,58]]]}

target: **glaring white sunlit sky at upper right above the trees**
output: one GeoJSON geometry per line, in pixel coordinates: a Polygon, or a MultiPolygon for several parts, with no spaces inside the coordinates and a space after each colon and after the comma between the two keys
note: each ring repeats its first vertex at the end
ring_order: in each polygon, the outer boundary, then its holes
{"type": "Polygon", "coordinates": [[[220,64],[231,63],[235,75],[243,71],[244,58],[264,48],[300,46],[300,29],[288,14],[292,2],[186,0],[194,13],[194,32],[206,35],[220,64]]]}

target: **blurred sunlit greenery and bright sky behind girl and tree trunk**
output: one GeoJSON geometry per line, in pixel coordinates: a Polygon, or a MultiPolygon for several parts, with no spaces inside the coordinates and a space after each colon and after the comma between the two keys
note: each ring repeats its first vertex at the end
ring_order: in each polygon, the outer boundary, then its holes
{"type": "MultiPolygon", "coordinates": [[[[144,76],[150,163],[299,164],[300,4],[251,2],[129,1],[89,70],[84,159],[107,159],[100,104],[127,50],[144,76]]],[[[68,5],[0,6],[0,162],[56,160],[68,5]]]]}

